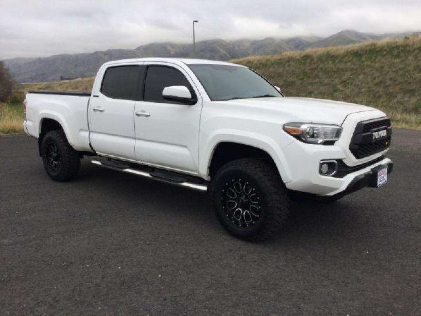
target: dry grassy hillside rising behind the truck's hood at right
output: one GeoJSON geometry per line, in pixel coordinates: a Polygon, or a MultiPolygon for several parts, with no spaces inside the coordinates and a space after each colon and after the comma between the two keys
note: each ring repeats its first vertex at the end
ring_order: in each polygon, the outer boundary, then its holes
{"type": "Polygon", "coordinates": [[[376,107],[394,126],[421,128],[421,37],[314,48],[231,62],[280,86],[287,96],[376,107]]]}

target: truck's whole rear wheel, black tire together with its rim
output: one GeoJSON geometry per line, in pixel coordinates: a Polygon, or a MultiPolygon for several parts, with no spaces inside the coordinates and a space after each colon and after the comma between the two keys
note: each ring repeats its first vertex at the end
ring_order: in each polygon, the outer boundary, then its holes
{"type": "Polygon", "coordinates": [[[68,181],[79,172],[81,156],[70,146],[62,130],[45,134],[41,145],[41,157],[45,171],[55,181],[68,181]]]}

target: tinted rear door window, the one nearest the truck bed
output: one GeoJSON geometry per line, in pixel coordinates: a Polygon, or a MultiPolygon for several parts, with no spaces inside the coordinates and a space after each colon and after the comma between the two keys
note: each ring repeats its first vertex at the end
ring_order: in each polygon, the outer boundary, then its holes
{"type": "Polygon", "coordinates": [[[114,99],[133,100],[139,79],[139,66],[108,68],[102,80],[101,93],[114,99]]]}

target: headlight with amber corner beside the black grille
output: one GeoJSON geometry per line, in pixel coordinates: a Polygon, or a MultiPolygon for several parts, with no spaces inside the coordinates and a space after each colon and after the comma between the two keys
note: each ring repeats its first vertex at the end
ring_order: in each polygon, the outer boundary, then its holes
{"type": "Polygon", "coordinates": [[[333,145],[341,136],[342,127],[327,124],[287,123],[284,131],[309,144],[333,145]]]}

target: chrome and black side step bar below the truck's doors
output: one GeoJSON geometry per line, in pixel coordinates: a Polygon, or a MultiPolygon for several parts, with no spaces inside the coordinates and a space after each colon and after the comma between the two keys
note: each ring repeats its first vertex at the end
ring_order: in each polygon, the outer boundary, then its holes
{"type": "Polygon", "coordinates": [[[136,176],[145,177],[145,178],[151,178],[160,182],[169,183],[172,185],[178,185],[181,187],[188,187],[190,189],[200,190],[200,191],[206,191],[208,190],[207,185],[194,183],[194,182],[188,182],[187,179],[185,179],[182,176],[173,175],[170,173],[165,173],[165,171],[143,171],[140,169],[132,168],[128,165],[121,164],[120,166],[118,164],[113,163],[104,163],[98,160],[92,160],[91,163],[97,166],[101,166],[107,169],[117,170],[117,171],[123,171],[130,174],[136,174],[136,176]]]}

